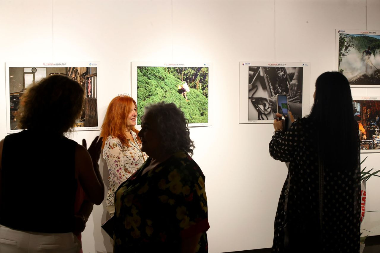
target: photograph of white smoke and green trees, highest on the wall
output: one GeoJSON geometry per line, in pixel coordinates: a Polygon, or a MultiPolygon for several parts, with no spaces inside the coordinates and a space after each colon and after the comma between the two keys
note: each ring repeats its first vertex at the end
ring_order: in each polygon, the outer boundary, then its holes
{"type": "Polygon", "coordinates": [[[380,33],[338,30],[337,63],[350,85],[380,85],[380,33]],[[348,33],[350,32],[350,33],[348,33]]]}

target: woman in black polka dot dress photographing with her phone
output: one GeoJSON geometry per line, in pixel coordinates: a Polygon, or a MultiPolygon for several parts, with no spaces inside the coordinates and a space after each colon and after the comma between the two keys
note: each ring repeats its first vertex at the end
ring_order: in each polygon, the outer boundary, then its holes
{"type": "Polygon", "coordinates": [[[339,72],[321,74],[310,115],[298,119],[285,133],[277,119],[274,128],[269,153],[275,160],[290,162],[290,187],[285,220],[285,180],[272,252],[359,252],[359,135],[347,79],[339,72]],[[323,205],[319,201],[318,160],[324,171],[323,205]],[[296,228],[291,250],[284,248],[283,225],[287,222],[296,228]]]}

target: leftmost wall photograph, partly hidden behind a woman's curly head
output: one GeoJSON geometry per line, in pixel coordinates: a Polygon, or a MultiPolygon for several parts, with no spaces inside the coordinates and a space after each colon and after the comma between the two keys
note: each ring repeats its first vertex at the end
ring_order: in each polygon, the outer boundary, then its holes
{"type": "MultiPolygon", "coordinates": [[[[66,64],[65,64],[66,65],[66,64]]],[[[98,129],[98,101],[97,101],[97,67],[68,67],[68,66],[7,66],[9,73],[9,132],[19,130],[17,118],[22,97],[28,88],[35,85],[41,79],[50,75],[64,75],[79,82],[85,91],[82,112],[75,122],[74,130],[98,129]]],[[[8,92],[7,92],[8,93],[8,92]]],[[[7,99],[8,100],[8,99],[7,99]]],[[[43,112],[41,112],[43,113],[43,112]]],[[[46,115],[46,122],[41,122],[41,126],[49,126],[49,117],[46,115]]]]}

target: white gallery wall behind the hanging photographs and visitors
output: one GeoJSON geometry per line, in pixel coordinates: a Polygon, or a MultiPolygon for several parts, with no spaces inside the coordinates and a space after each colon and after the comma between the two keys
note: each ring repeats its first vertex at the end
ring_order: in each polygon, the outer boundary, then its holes
{"type": "MultiPolygon", "coordinates": [[[[190,129],[193,158],[206,175],[209,251],[271,247],[287,167],[269,156],[271,124],[238,123],[239,61],[310,62],[305,95],[313,101],[315,79],[334,70],[335,29],[380,30],[379,12],[378,0],[0,0],[0,139],[8,110],[5,62],[100,62],[100,119],[114,96],[131,93],[131,61],[211,62],[213,125],[190,129]]],[[[50,117],[59,116],[46,115],[41,127],[50,117]]],[[[98,134],[70,138],[89,142],[98,134]]],[[[44,137],[36,148],[54,148],[44,137]]],[[[379,153],[366,156],[367,168],[380,169],[379,153]]],[[[100,170],[106,181],[103,159],[100,170]]],[[[380,178],[371,178],[367,210],[380,210],[379,191],[380,178]]],[[[84,252],[112,252],[100,228],[107,218],[104,201],[83,232],[84,252]]],[[[362,228],[379,235],[380,212],[367,213],[362,228]]]]}

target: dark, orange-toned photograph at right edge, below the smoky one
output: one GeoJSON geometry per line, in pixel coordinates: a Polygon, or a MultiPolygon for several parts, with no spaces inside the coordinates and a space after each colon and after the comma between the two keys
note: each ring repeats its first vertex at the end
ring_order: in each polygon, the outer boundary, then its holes
{"type": "Polygon", "coordinates": [[[359,126],[360,149],[380,151],[380,98],[354,97],[353,110],[359,126]]]}

